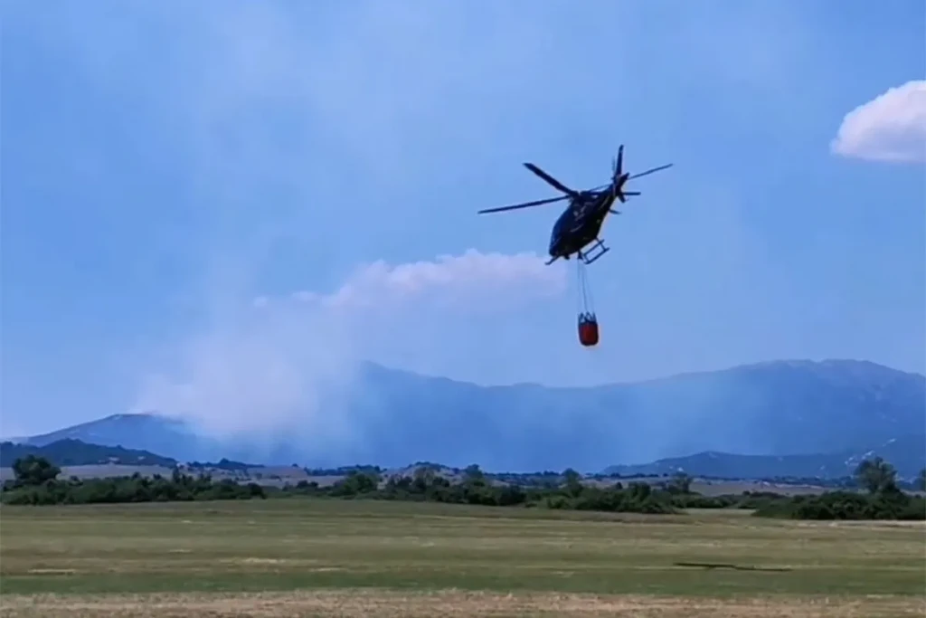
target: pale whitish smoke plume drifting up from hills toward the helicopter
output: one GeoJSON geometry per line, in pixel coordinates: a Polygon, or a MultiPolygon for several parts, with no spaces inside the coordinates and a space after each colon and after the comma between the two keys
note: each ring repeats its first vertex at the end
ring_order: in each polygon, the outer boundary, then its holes
{"type": "MultiPolygon", "coordinates": [[[[171,350],[175,371],[148,375],[133,410],[157,410],[209,435],[272,442],[299,432],[316,448],[351,448],[359,419],[332,410],[360,361],[396,345],[429,346],[431,320],[457,332],[472,313],[522,309],[566,287],[562,264],[533,254],[462,255],[356,271],[330,294],[257,296],[209,316],[206,328],[171,350]],[[431,311],[442,308],[450,310],[431,311]],[[421,319],[419,320],[419,317],[421,319]],[[419,333],[408,337],[407,332],[419,333]],[[323,394],[323,395],[322,395],[323,394]],[[329,402],[322,412],[319,401],[329,402]]],[[[439,331],[438,331],[439,332],[439,331]]]]}

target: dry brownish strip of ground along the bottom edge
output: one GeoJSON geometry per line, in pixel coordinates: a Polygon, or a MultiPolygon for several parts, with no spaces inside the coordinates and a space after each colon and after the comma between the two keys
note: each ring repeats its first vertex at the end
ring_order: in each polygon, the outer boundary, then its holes
{"type": "Polygon", "coordinates": [[[922,616],[926,600],[769,597],[698,599],[572,594],[326,590],[258,594],[5,595],[5,618],[448,618],[503,616],[634,616],[644,618],[898,618],[922,616]]]}

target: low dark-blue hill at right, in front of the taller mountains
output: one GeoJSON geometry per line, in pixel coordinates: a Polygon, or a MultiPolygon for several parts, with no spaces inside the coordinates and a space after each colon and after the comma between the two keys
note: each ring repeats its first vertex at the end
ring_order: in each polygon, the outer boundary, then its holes
{"type": "Polygon", "coordinates": [[[836,479],[852,476],[859,462],[876,456],[890,461],[900,476],[914,478],[926,468],[926,435],[902,437],[879,448],[841,453],[770,456],[703,452],[638,465],[608,466],[602,474],[638,476],[684,472],[692,476],[717,478],[836,479]]]}

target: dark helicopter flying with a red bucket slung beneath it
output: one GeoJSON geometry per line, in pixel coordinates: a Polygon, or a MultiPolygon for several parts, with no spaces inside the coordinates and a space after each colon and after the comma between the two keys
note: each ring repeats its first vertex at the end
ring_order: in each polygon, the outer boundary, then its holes
{"type": "Polygon", "coordinates": [[[624,172],[623,159],[624,145],[621,144],[618,148],[618,157],[611,161],[611,182],[585,191],[570,189],[533,163],[525,163],[525,168],[540,176],[546,183],[549,183],[565,195],[501,208],[487,208],[480,210],[478,214],[532,208],[568,199],[569,207],[563,211],[553,225],[549,246],[550,259],[546,262],[546,265],[549,266],[559,258],[569,259],[572,254],[576,254],[577,259],[582,260],[583,263],[591,264],[609,250],[604,242],[598,238],[598,234],[601,233],[601,226],[605,222],[608,213],[620,214],[619,210],[611,208],[614,200],[617,199],[623,204],[627,201],[628,195],[640,195],[639,191],[624,191],[624,184],[633,178],[640,178],[656,171],[666,170],[673,165],[669,163],[668,165],[631,175],[624,172]],[[594,245],[585,250],[585,247],[592,243],[594,245]]]}

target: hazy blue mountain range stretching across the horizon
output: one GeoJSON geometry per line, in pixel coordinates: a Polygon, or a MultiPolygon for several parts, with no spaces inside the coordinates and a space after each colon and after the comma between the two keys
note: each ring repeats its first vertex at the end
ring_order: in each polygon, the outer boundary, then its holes
{"type": "MultiPolygon", "coordinates": [[[[221,410],[210,413],[221,422],[221,410]]],[[[266,421],[259,440],[254,431],[232,426],[219,436],[152,412],[19,442],[72,438],[181,461],[391,467],[433,460],[510,472],[619,471],[644,461],[657,461],[646,465],[659,471],[691,470],[691,461],[667,458],[700,453],[697,467],[706,469],[723,455],[728,470],[790,471],[749,476],[841,476],[846,461],[872,449],[890,450],[885,459],[903,461],[905,470],[926,463],[926,377],[857,360],[771,361],[589,387],[482,386],[368,363],[350,388],[319,394],[303,414],[254,410],[254,419],[266,421]]]]}

